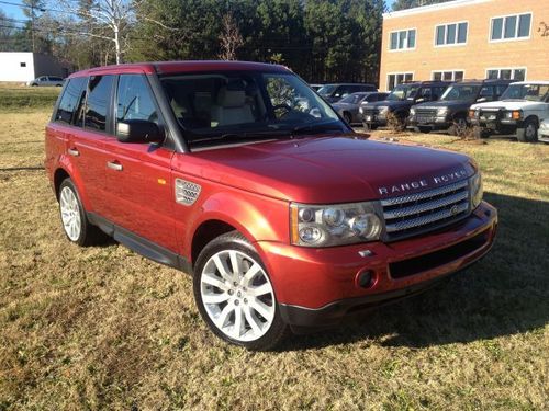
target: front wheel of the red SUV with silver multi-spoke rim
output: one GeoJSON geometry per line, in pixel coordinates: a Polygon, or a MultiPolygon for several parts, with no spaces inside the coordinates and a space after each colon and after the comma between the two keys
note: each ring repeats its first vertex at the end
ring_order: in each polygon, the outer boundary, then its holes
{"type": "Polygon", "coordinates": [[[237,231],[204,247],[197,259],[193,292],[209,328],[227,342],[266,351],[289,330],[259,254],[237,231]]]}

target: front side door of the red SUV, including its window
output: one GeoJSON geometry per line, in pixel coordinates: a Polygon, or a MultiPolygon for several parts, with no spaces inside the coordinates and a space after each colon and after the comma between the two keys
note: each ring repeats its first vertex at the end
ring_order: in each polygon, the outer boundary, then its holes
{"type": "MultiPolygon", "coordinates": [[[[144,75],[121,75],[114,99],[114,129],[126,119],[144,119],[164,129],[160,111],[144,75]]],[[[105,139],[104,217],[155,244],[178,251],[173,225],[173,151],[158,144],[105,139]]]]}

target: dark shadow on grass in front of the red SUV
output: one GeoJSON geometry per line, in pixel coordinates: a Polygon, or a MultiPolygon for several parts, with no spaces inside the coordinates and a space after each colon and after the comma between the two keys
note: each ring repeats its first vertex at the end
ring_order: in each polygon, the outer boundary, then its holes
{"type": "Polygon", "coordinates": [[[486,193],[500,227],[492,251],[444,286],[359,320],[290,338],[281,351],[352,342],[425,347],[524,332],[549,322],[549,202],[486,193]]]}

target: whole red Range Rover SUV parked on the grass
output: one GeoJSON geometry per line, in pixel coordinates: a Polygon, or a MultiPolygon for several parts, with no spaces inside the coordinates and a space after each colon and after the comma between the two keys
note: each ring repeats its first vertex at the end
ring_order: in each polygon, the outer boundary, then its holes
{"type": "Polygon", "coordinates": [[[77,72],[45,162],[70,241],[192,273],[212,331],[253,350],[430,287],[497,224],[470,158],[357,138],[274,65],[77,72]]]}

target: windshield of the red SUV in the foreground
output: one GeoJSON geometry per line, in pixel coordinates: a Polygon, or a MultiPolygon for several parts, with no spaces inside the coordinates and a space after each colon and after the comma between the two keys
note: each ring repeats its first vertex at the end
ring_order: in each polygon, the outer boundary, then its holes
{"type": "Polygon", "coordinates": [[[334,110],[292,73],[227,71],[160,79],[190,145],[346,130],[334,110]]]}

